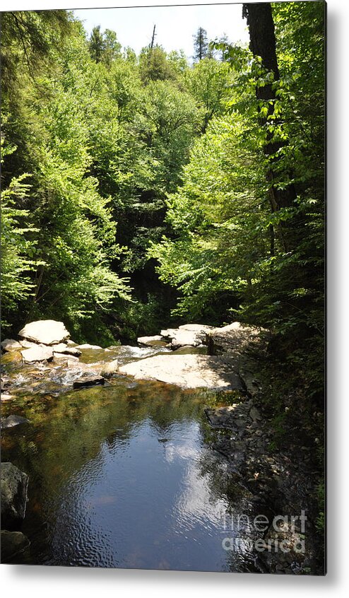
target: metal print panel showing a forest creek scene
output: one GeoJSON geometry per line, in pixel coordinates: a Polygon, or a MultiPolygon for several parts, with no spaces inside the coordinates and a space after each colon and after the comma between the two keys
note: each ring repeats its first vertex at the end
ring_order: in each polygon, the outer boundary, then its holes
{"type": "Polygon", "coordinates": [[[1,12],[1,561],[324,575],[322,1],[1,12]]]}

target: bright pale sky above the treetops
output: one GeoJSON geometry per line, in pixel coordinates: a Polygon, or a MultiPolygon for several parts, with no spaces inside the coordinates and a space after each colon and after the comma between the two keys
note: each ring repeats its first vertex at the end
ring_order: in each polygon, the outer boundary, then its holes
{"type": "Polygon", "coordinates": [[[167,52],[183,49],[189,59],[194,52],[193,35],[199,27],[206,29],[208,40],[226,34],[230,42],[249,41],[242,4],[88,8],[73,12],[83,21],[88,35],[95,25],[100,25],[102,31],[112,29],[122,46],[130,46],[137,54],[149,45],[154,25],[158,45],[167,52]]]}

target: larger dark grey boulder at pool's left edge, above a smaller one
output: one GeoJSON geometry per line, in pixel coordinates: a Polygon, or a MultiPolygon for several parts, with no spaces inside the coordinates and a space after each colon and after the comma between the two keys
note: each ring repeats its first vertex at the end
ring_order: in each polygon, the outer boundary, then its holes
{"type": "Polygon", "coordinates": [[[24,519],[28,476],[16,465],[1,464],[1,527],[13,527],[24,519]]]}

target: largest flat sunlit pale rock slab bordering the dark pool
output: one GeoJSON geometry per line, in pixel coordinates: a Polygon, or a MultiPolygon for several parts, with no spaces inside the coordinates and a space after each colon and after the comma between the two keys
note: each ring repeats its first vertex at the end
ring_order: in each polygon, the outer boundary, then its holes
{"type": "Polygon", "coordinates": [[[136,380],[158,380],[182,388],[242,390],[242,382],[229,358],[206,355],[158,355],[119,368],[136,380]]]}

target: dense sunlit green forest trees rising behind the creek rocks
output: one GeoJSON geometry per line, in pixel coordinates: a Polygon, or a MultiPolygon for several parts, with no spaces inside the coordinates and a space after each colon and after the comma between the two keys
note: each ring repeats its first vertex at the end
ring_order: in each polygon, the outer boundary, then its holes
{"type": "Polygon", "coordinates": [[[1,13],[4,334],[238,319],[321,385],[324,3],[260,6],[249,47],[198,26],[192,59],[69,11],[1,13]]]}

